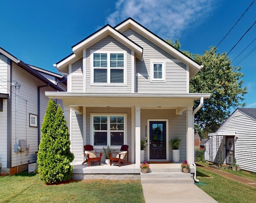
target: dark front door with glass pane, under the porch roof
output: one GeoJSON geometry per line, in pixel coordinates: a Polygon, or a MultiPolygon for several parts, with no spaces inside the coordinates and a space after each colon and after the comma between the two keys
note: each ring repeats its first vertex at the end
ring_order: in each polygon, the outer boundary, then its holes
{"type": "Polygon", "coordinates": [[[149,121],[150,159],[166,159],[166,121],[149,121]]]}

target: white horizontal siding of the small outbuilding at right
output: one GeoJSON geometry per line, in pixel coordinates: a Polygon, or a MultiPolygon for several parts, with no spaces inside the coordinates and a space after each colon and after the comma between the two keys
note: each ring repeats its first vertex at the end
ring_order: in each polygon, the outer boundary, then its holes
{"type": "MultiPolygon", "coordinates": [[[[236,135],[238,136],[238,139],[235,139],[236,162],[240,165],[241,169],[256,172],[256,169],[252,164],[256,162],[256,121],[251,117],[244,115],[244,113],[236,111],[236,113],[222,125],[218,132],[236,132],[236,135]]],[[[208,151],[206,153],[206,158],[206,160],[209,159],[208,151]]]]}

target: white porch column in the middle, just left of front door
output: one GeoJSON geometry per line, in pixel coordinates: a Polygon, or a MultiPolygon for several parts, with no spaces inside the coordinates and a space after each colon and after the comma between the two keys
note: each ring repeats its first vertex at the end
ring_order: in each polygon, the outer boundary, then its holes
{"type": "Polygon", "coordinates": [[[135,166],[140,166],[140,106],[135,107],[135,166]]]}

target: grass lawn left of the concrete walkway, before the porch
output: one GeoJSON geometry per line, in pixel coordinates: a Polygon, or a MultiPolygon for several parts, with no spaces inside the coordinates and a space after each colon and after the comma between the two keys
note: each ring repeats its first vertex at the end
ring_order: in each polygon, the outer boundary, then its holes
{"type": "Polygon", "coordinates": [[[0,201],[7,202],[145,202],[140,181],[83,180],[45,185],[38,174],[0,177],[0,201]]]}

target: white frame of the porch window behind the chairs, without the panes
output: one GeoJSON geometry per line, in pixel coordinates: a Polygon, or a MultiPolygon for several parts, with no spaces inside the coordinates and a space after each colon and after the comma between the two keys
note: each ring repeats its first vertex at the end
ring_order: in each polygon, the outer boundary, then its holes
{"type": "Polygon", "coordinates": [[[91,136],[90,144],[93,145],[94,149],[103,149],[108,145],[110,148],[120,148],[122,145],[110,145],[111,135],[110,135],[110,116],[124,116],[124,145],[127,145],[127,114],[126,113],[90,113],[90,126],[91,126],[91,136]],[[94,145],[94,130],[93,130],[93,117],[94,116],[107,116],[107,145],[94,145]]]}

